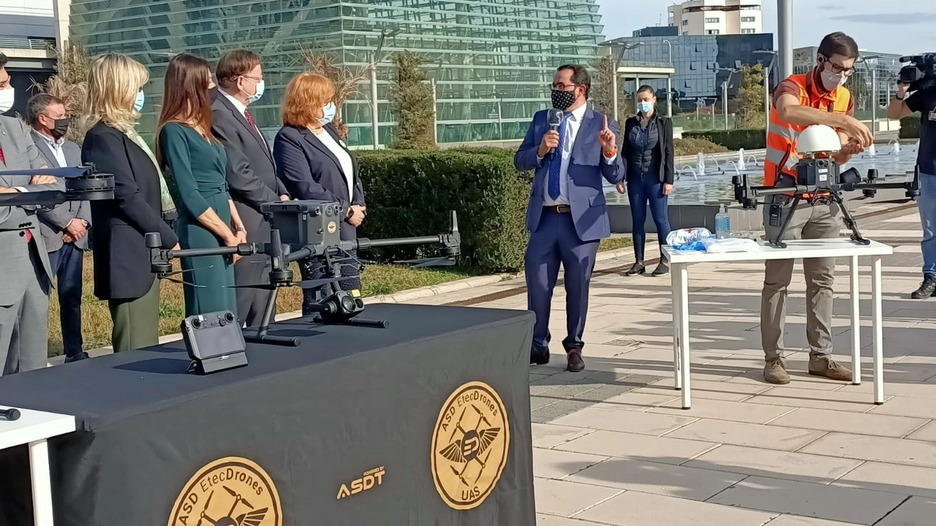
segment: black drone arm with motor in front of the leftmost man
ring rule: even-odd
[[[0,206],[56,206],[68,201],[101,201],[114,198],[114,177],[99,174],[94,164],[70,168],[9,170],[0,176],[53,176],[65,179],[65,190],[0,193]]]

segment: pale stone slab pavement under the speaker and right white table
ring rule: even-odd
[[[857,203],[859,215],[885,208]],[[909,298],[920,281],[922,234],[915,209],[898,210],[859,221],[863,234],[895,247],[884,259],[884,405],[871,404],[870,266],[861,267],[866,374],[858,386],[806,374],[799,263],[785,329],[787,386],[763,382],[763,264],[694,266],[694,403],[682,410],[672,388],[669,279],[624,277],[629,260],[603,263],[592,280],[586,371],[563,371],[561,346],[552,363],[531,367],[537,524],[936,523],[936,299]],[[848,363],[848,262],[839,263],[833,332]],[[521,281],[413,303],[480,296],[495,299],[475,306],[521,309]],[[557,287],[553,334],[564,332],[563,302]]]

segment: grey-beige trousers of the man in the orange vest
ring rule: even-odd
[[[772,198],[782,203],[782,220],[792,211],[792,199]],[[768,203],[771,203],[768,199]],[[822,200],[812,204],[801,201],[783,236],[784,239],[822,239],[839,237],[840,213],[835,203]],[[764,226],[768,238],[780,227],[769,223],[770,206],[764,206]],[[786,321],[786,292],[793,278],[794,260],[765,262],[764,290],[761,293],[761,344],[767,362],[783,359],[783,325]],[[806,339],[810,358],[832,352],[832,285],[835,282],[835,258],[803,260],[806,277]]]

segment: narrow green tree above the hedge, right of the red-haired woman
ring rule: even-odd
[[[422,67],[425,59],[412,51],[393,57],[397,77],[390,85],[390,111],[397,119],[395,149],[431,149],[435,147],[435,103],[429,74]]]

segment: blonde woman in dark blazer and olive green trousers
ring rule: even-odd
[[[114,199],[93,201],[95,296],[107,301],[114,352],[159,343],[159,282],[150,270],[144,235],[162,235],[178,248],[167,220],[175,214],[151,149],[136,131],[143,86],[150,74],[139,62],[107,53],[91,61],[81,161],[114,176]]]

